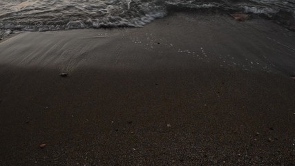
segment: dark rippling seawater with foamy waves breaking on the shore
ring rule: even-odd
[[[1,0],[0,29],[142,27],[173,12],[246,12],[292,26],[295,0]]]

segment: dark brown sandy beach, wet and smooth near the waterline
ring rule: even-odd
[[[0,165],[294,165],[294,41],[177,12],[3,39]]]

